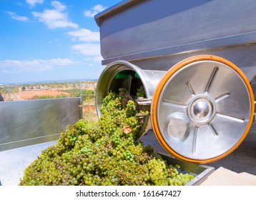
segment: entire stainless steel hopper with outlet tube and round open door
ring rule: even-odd
[[[137,73],[149,99],[147,123],[163,149],[195,164],[227,156],[247,136],[255,112],[255,9],[253,0],[131,0],[97,14],[107,65],[98,113],[110,90],[136,89],[114,79],[119,71],[159,74]]]

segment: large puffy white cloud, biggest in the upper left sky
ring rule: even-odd
[[[32,14],[39,19],[39,21],[46,24],[49,29],[67,27],[78,28],[77,24],[69,21],[68,14],[64,12],[66,6],[59,1],[52,1],[51,6],[53,6],[54,9],[45,9],[43,12],[32,12]]]

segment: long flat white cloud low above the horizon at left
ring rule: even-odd
[[[70,59],[0,60],[0,71],[2,73],[41,72],[49,71],[55,66],[70,66],[79,63],[79,61]]]

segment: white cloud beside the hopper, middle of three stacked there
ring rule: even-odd
[[[79,41],[99,41],[99,32],[93,32],[89,29],[79,29],[77,31],[67,32],[69,36],[73,37],[73,40]]]

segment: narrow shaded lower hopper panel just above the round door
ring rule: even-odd
[[[256,36],[255,36],[256,38]],[[210,54],[225,58],[238,66],[249,81],[252,81],[256,74],[256,43],[240,44],[233,46],[217,47],[212,49],[197,49],[195,51],[184,51],[176,54],[156,56],[150,59],[139,59],[130,61],[141,69],[169,70],[183,59],[191,56]]]

